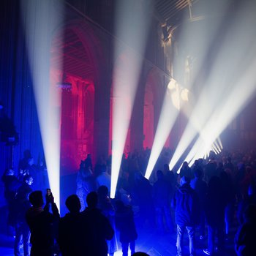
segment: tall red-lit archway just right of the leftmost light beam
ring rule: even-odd
[[[61,54],[60,54],[61,53]],[[94,64],[86,42],[72,27],[52,43],[50,78],[61,90],[61,174],[75,172],[93,151]],[[62,64],[62,69],[56,69]]]

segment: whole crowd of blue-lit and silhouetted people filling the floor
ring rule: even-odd
[[[208,159],[197,159],[191,167],[183,162],[177,171],[169,170],[172,152],[165,149],[149,180],[144,174],[150,150],[133,152],[122,159],[114,199],[109,197],[111,158],[93,166],[89,154],[80,162],[76,195],[67,197],[64,217],[50,190],[42,208],[44,190],[38,176],[37,187],[31,187],[34,177],[28,170],[33,164],[26,154],[26,161],[20,160],[20,166],[27,162],[26,168],[18,175],[8,169],[2,177],[8,222],[15,227],[15,255],[20,255],[21,243],[24,255],[114,255],[118,239],[124,256],[129,249],[137,255],[140,228],[158,235],[176,233],[177,255],[184,253],[187,230],[191,256],[197,251],[196,237],[206,239],[203,252],[214,255],[225,252],[225,241],[236,227],[236,254],[256,255],[255,151],[210,152]]]

